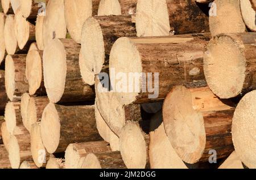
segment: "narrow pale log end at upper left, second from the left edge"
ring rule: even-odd
[[[17,40],[14,30],[14,15],[6,16],[3,33],[5,35],[4,38],[7,54],[15,54],[17,48]]]

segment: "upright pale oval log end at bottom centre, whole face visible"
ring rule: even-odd
[[[144,169],[146,166],[146,142],[141,128],[127,122],[119,136],[120,152],[128,169]]]

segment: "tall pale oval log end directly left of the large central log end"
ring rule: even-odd
[[[105,62],[104,39],[100,24],[94,18],[88,18],[81,33],[81,49],[84,61],[80,62],[81,71],[84,70],[86,76],[97,75]],[[86,80],[85,77],[85,82]]]

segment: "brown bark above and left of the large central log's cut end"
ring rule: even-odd
[[[114,42],[120,37],[136,37],[135,24],[132,16],[95,16],[93,17],[100,24],[105,48],[105,63],[109,65],[109,54]]]

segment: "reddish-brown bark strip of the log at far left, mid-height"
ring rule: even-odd
[[[21,96],[28,92],[28,82],[26,79],[26,54],[14,54],[11,55],[14,62],[15,69],[15,89],[14,97],[12,101],[20,101]]]

